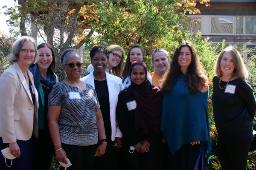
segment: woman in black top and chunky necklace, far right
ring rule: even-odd
[[[256,101],[243,59],[232,46],[221,51],[215,64],[212,105],[218,131],[218,158],[223,170],[246,170],[253,141]]]

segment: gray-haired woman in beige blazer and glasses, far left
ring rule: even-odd
[[[31,170],[32,133],[38,135],[38,93],[28,67],[38,59],[36,49],[35,40],[20,37],[7,57],[14,63],[0,77],[0,150],[9,147],[17,156],[12,162],[0,156],[0,170]]]

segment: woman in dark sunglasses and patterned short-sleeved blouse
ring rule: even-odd
[[[48,97],[48,122],[57,161],[69,170],[91,170],[95,156],[107,146],[102,113],[94,88],[81,82],[81,56],[75,49],[61,54],[66,79],[56,84]],[[101,141],[97,146],[98,141]],[[61,167],[64,169],[64,167]]]

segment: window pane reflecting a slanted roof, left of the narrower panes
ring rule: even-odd
[[[233,34],[233,17],[211,17],[211,34]]]

